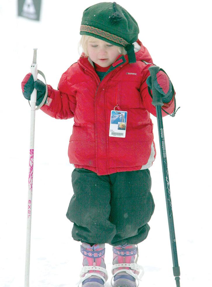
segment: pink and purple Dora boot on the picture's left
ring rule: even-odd
[[[108,279],[106,265],[104,263],[105,244],[94,244],[91,246],[82,243],[83,268],[80,273],[78,287],[103,287]]]

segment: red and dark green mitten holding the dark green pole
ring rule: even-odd
[[[150,91],[150,89],[152,89],[151,76],[147,78],[146,84],[148,85],[149,94],[152,96]],[[173,85],[163,69],[160,69],[156,74],[154,79],[154,86],[156,90],[161,94],[163,103],[168,103],[171,101],[173,98]]]

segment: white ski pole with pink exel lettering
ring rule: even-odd
[[[31,73],[34,81],[37,81],[37,49],[34,49]],[[31,219],[32,219],[32,180],[33,180],[33,160],[34,160],[34,138],[35,138],[35,104],[37,90],[31,94],[31,120],[30,120],[30,160],[29,160],[29,181],[28,181],[28,201],[27,201],[27,240],[25,259],[25,282],[24,286],[29,287],[30,276],[30,239],[31,239]]]

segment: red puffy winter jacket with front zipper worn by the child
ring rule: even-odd
[[[92,61],[82,54],[63,73],[58,90],[48,85],[48,105],[41,109],[58,119],[74,117],[68,156],[76,168],[98,175],[119,171],[146,169],[152,165],[156,151],[153,141],[151,104],[146,79],[152,63],[147,49],[138,40],[136,63],[129,64],[127,55],[119,55],[100,82]],[[127,111],[126,137],[109,137],[111,110]],[[174,110],[174,99],[164,104],[168,113]],[[163,116],[166,113],[162,112]]]

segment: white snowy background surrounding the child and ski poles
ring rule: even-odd
[[[0,286],[23,287],[30,107],[21,81],[30,72],[33,48],[38,69],[55,89],[79,55],[82,12],[98,1],[42,1],[39,23],[18,18],[16,1],[0,3],[1,180]],[[60,3],[60,4],[58,4]],[[139,39],[177,92],[175,118],[164,118],[181,286],[211,286],[211,43],[208,1],[119,1],[137,20]],[[175,286],[158,151],[151,167],[156,204],[148,238],[139,244],[145,274],[140,286]],[[36,112],[30,287],[72,287],[82,266],[80,243],[71,238],[66,210],[73,190],[68,141],[73,119]],[[106,246],[110,274],[112,248]],[[110,284],[107,284],[109,287]]]

